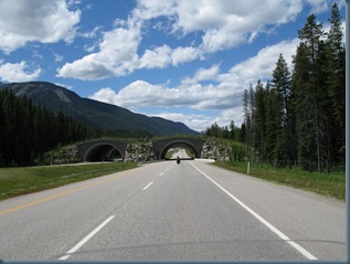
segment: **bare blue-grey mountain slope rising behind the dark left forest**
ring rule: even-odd
[[[149,117],[126,108],[82,98],[72,91],[46,82],[0,83],[17,96],[26,96],[47,109],[71,116],[76,122],[104,130],[145,130],[157,136],[198,135],[182,123]]]

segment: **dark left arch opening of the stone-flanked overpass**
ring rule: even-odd
[[[124,156],[113,145],[99,144],[91,147],[84,157],[84,162],[114,161],[123,159]]]

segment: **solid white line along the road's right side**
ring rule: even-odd
[[[276,229],[274,225],[272,225],[269,222],[267,222],[264,218],[262,218],[259,214],[257,214],[255,211],[253,211],[251,208],[245,205],[240,199],[234,197],[232,193],[230,193],[226,189],[224,189],[222,186],[220,186],[216,181],[214,181],[212,178],[210,178],[208,175],[205,175],[203,171],[201,171],[197,166],[194,166],[192,162],[189,161],[190,165],[194,169],[197,169],[199,172],[201,172],[206,179],[209,179],[211,182],[213,182],[215,186],[218,186],[223,192],[225,192],[230,198],[232,198],[234,201],[236,201],[241,207],[243,207],[246,211],[248,211],[251,214],[253,214],[257,220],[259,220],[263,224],[265,224],[269,230],[272,230],[275,234],[277,234],[282,240],[287,242],[289,245],[291,245],[294,249],[296,249],[298,252],[300,252],[304,256],[306,256],[308,260],[317,260],[316,256],[314,256],[311,253],[309,253],[307,250],[305,250],[303,246],[297,244],[296,242],[291,241],[287,235],[285,235],[283,232],[280,232],[278,229]]]

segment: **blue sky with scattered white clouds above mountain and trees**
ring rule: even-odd
[[[0,82],[44,81],[81,97],[203,131],[243,123],[242,95],[289,72],[298,30],[330,0],[0,0]],[[343,30],[343,32],[346,32]]]

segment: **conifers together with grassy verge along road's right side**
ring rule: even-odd
[[[283,54],[272,80],[243,93],[244,122],[204,135],[230,148],[216,166],[279,184],[346,199],[346,46],[337,3],[330,30],[310,14],[288,68]],[[241,142],[241,145],[238,144]],[[230,160],[230,161],[229,161]]]

